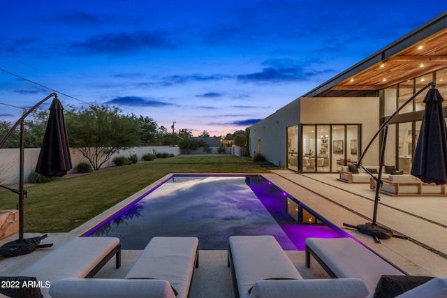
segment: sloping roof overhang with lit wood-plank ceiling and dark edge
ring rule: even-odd
[[[447,67],[447,12],[303,97],[379,96],[379,90]]]

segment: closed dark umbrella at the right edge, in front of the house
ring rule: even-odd
[[[425,112],[411,174],[425,183],[447,184],[447,133],[442,98],[432,87],[425,96]]]

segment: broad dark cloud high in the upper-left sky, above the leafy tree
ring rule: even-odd
[[[84,41],[72,43],[71,47],[79,54],[123,54],[147,48],[173,48],[167,35],[163,31],[99,33]]]

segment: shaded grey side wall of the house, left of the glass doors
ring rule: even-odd
[[[300,98],[259,121],[250,128],[250,156],[258,154],[258,140],[261,140],[261,154],[270,163],[286,167],[287,127],[300,122]]]

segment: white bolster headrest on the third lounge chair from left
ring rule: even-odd
[[[249,298],[364,298],[368,288],[359,278],[256,281]]]

